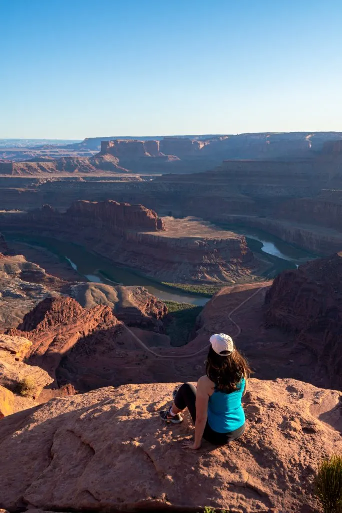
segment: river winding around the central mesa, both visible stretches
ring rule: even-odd
[[[266,278],[273,278],[284,269],[296,268],[299,264],[315,258],[315,255],[287,244],[273,235],[258,229],[239,225],[220,225],[220,227],[245,235],[250,249],[269,260],[270,268],[264,273]],[[89,281],[110,285],[142,285],[151,294],[164,301],[176,301],[178,303],[191,303],[194,305],[205,305],[209,301],[209,298],[202,295],[172,289],[146,278],[132,269],[117,266],[110,260],[95,255],[76,244],[18,233],[8,233],[6,238],[9,241],[16,240],[31,246],[47,249],[60,259],[66,259],[73,269]]]

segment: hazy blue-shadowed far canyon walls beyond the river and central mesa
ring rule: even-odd
[[[207,169],[198,168],[196,154],[209,151],[206,148],[214,145],[213,140],[210,139],[209,144],[209,139],[179,138],[177,151],[179,155],[183,151],[183,160],[177,157],[180,160],[167,165],[178,162],[183,166],[184,159],[192,155],[191,159],[195,159],[192,171],[197,172],[186,174],[177,174],[175,169],[172,173],[159,169],[158,174],[152,172],[152,168],[147,175],[138,173],[138,169],[132,174],[126,164],[122,164],[123,159],[127,162],[133,159],[135,163],[141,159],[151,162],[166,159],[163,151],[165,148],[170,151],[176,144],[172,138],[165,139],[167,143],[163,140],[104,141],[99,154],[89,159],[93,171],[87,168],[82,172],[82,166],[77,168],[75,165],[73,169],[77,168],[77,172],[69,177],[67,172],[58,176],[55,172],[47,175],[41,171],[32,171],[31,178],[19,174],[2,175],[0,199],[3,209],[29,210],[44,204],[67,209],[77,200],[102,202],[111,198],[117,202],[145,205],[159,216],[197,216],[213,223],[257,227],[315,254],[327,255],[338,251],[341,244],[341,144],[336,139],[329,141],[334,134],[316,135],[316,141],[320,142],[313,145],[315,151],[311,148],[312,153],[306,156],[275,158],[270,154],[267,160],[265,156],[247,160],[248,153],[244,153],[244,160],[217,160],[215,165],[208,163]],[[265,140],[269,139],[266,137]],[[219,144],[226,144],[230,139],[219,136],[218,140]],[[284,139],[279,136],[281,140]],[[309,137],[309,140],[315,139]],[[256,141],[260,139],[256,137]],[[134,153],[129,149],[131,146],[140,149]],[[222,155],[227,156],[227,153]],[[105,163],[108,169],[114,166],[119,172],[100,171]],[[30,165],[33,164],[38,165]],[[51,162],[43,164],[52,166]],[[24,164],[10,164],[12,167],[20,165]]]

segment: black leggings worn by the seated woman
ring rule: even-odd
[[[188,408],[192,421],[196,422],[196,388],[191,383],[184,383],[177,391],[174,404],[179,410]],[[224,445],[239,438],[245,432],[246,424],[228,433],[218,433],[209,426],[207,420],[203,438],[214,445]]]

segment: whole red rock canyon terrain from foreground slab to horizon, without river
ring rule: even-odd
[[[58,150],[87,159],[10,163],[0,177],[0,508],[317,510],[317,466],[342,450],[340,137],[90,139]],[[236,226],[324,258],[303,256],[272,281]],[[187,334],[176,347],[174,305],[143,286],[86,282],[68,254],[22,234],[217,292],[190,329],[178,325]],[[204,373],[213,332],[230,333],[255,373],[247,430],[179,459],[189,417],[170,428],[158,410],[175,381]],[[17,386],[32,377],[24,397]]]

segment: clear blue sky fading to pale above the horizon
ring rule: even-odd
[[[0,137],[342,130],[342,0],[0,0]]]

